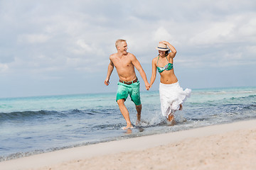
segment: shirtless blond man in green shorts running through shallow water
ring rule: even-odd
[[[110,84],[110,75],[114,67],[117,69],[117,74],[119,76],[117,98],[119,109],[127,121],[127,126],[122,128],[123,130],[133,128],[131,120],[129,118],[129,112],[124,105],[124,101],[127,99],[128,95],[134,102],[137,110],[137,123],[140,122],[142,103],[139,94],[139,80],[135,74],[134,67],[139,71],[142,79],[144,80],[146,90],[149,90],[149,82],[146,79],[146,74],[142,69],[141,64],[137,58],[132,55],[132,53],[127,52],[127,42],[126,40],[117,40],[115,43],[117,47],[117,52],[110,55],[110,64],[107,69],[107,78],[105,79],[105,85]]]

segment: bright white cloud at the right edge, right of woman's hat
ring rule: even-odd
[[[252,42],[256,36],[256,22],[251,13],[228,16],[224,21],[208,22],[201,33],[196,33],[190,42],[196,45],[216,43]],[[252,18],[251,18],[252,17]]]

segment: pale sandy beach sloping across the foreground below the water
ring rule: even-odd
[[[256,169],[256,120],[63,149],[0,169]]]

